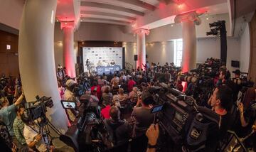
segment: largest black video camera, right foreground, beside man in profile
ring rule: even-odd
[[[215,151],[218,144],[219,116],[206,107],[197,106],[193,97],[173,88],[149,89],[159,106],[154,107],[161,129],[161,151],[183,147],[188,151]],[[157,92],[157,93],[156,93]],[[172,149],[170,143],[174,144]],[[166,149],[165,149],[166,148]],[[176,151],[182,151],[176,149]]]

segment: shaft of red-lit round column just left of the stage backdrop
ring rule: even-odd
[[[70,26],[63,27],[63,60],[67,75],[75,77],[75,52],[74,52],[74,28]]]

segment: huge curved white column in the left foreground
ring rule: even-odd
[[[63,133],[68,118],[60,103],[53,52],[57,0],[26,0],[18,37],[18,61],[27,102],[52,97],[48,119]]]

